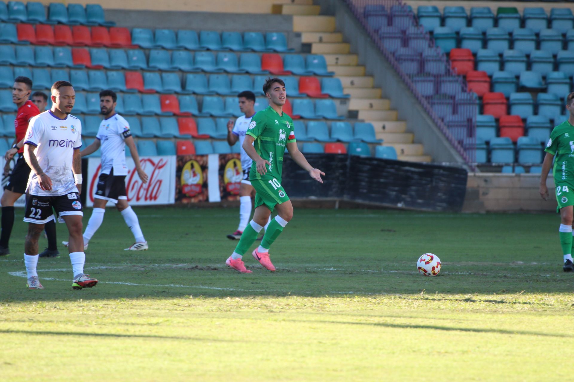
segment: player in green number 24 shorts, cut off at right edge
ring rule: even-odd
[[[556,201],[560,212],[560,246],[564,254],[565,272],[574,270],[572,263],[572,211],[574,210],[574,92],[566,97],[566,108],[570,112],[568,120],[554,127],[550,133],[550,140],[546,145],[546,156],[542,163],[540,177],[540,195],[548,199],[546,178],[554,161],[554,185],[556,186]]]

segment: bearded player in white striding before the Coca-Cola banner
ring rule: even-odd
[[[112,202],[122,214],[131,233],[134,234],[135,243],[126,248],[126,251],[142,251],[148,249],[148,242],[139,227],[138,216],[127,204],[126,192],[126,144],[130,148],[131,157],[134,160],[135,170],[142,182],[148,182],[148,175],[139,163],[138,150],[131,136],[130,125],[118,113],[115,112],[117,94],[112,90],[102,90],[100,92],[100,112],[104,116],[98,135],[92,144],[83,149],[82,156],[90,155],[99,147],[102,147],[102,164],[98,187],[94,195],[94,208],[92,216],[88,220],[88,226],[84,232],[84,249],[87,249],[88,242],[102,225],[106,203]],[[67,243],[64,242],[64,245]]]

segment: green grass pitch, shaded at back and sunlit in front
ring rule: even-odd
[[[254,273],[239,274],[224,265],[235,208],[135,210],[150,250],[123,251],[133,238],[108,209],[86,251],[91,290],[71,290],[66,254],[40,259],[45,289],[27,290],[17,223],[0,259],[0,380],[571,379],[557,215],[296,210],[277,272],[247,255]],[[426,252],[439,277],[417,273]]]

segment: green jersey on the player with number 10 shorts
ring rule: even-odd
[[[291,117],[285,113],[279,115],[269,106],[253,116],[246,134],[255,138],[253,142],[255,151],[270,163],[267,164],[265,175],[261,175],[257,172],[257,166],[253,161],[249,179],[277,179],[281,182],[285,145],[296,141]]]

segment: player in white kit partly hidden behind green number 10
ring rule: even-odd
[[[251,123],[251,117],[255,115],[255,94],[249,90],[245,90],[237,95],[239,99],[239,110],[245,115],[239,117],[235,120],[229,120],[227,123],[227,143],[232,146],[239,140],[239,145],[243,145],[243,140],[245,139],[245,133],[249,124]],[[241,180],[241,186],[239,186],[239,226],[234,233],[227,235],[228,239],[239,240],[241,234],[247,223],[249,223],[249,218],[251,217],[251,194],[253,194],[253,186],[249,181],[249,171],[251,170],[251,164],[253,159],[247,155],[243,147],[241,148],[241,168],[243,170],[243,179]],[[271,216],[269,216],[269,221],[265,225],[264,229],[267,229],[271,222]],[[259,238],[261,240],[261,238]]]

